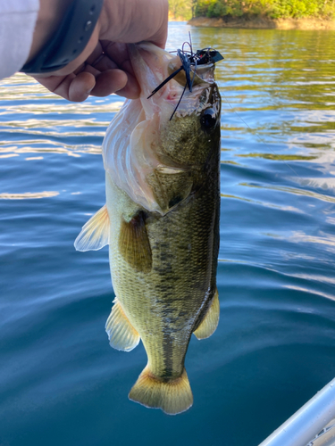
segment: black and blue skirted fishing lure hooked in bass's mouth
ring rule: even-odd
[[[186,51],[184,49],[185,45],[189,46],[190,51]],[[166,79],[164,79],[163,82],[158,87],[155,87],[155,90],[153,90],[151,92],[151,95],[149,95],[147,97],[147,99],[150,99],[150,97],[155,95],[155,93],[157,93],[157,91],[159,91],[167,82],[169,82],[169,80],[174,78],[181,70],[184,70],[185,76],[186,76],[186,84],[183,89],[183,92],[180,95],[180,100],[178,101],[176,108],[174,109],[170,120],[172,120],[174,113],[177,111],[180,101],[182,99],[182,96],[184,95],[184,93],[186,91],[186,88],[188,87],[188,91],[190,93],[192,93],[193,80],[197,73],[197,66],[205,65],[206,63],[220,62],[224,59],[222,54],[220,54],[217,50],[214,50],[210,46],[207,48],[203,48],[202,50],[197,50],[197,53],[193,53],[190,35],[189,35],[189,42],[184,42],[182,45],[182,49],[177,50],[177,54],[179,55],[180,61],[181,61],[180,68],[178,70],[173,71],[173,73],[170,76],[168,76]],[[192,79],[190,76],[191,67],[194,67]]]

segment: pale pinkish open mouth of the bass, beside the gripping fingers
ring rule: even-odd
[[[205,88],[214,84],[214,63],[190,67],[191,90],[187,88],[185,71],[180,70],[152,95],[156,87],[182,67],[180,57],[150,42],[130,44],[128,48],[130,62],[141,88],[140,100],[146,119],[152,119],[159,113],[161,121],[166,121],[171,118],[177,105],[181,116],[203,110],[200,96]]]

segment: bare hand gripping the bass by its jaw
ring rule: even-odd
[[[43,1],[48,0],[42,0],[41,4]],[[139,86],[126,44],[148,40],[163,48],[167,16],[167,0],[105,0],[85,50],[62,70],[34,78],[50,91],[73,102],[85,101],[88,95],[112,93],[136,99]],[[34,41],[36,39],[35,31]],[[37,51],[35,46],[33,52],[37,54]],[[29,58],[33,55],[30,52]]]

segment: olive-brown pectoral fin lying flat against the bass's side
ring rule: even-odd
[[[119,250],[123,258],[138,272],[147,273],[151,270],[152,253],[144,211],[139,211],[129,222],[122,221]]]

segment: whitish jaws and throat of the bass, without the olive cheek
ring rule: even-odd
[[[185,72],[180,70],[179,75],[151,95],[171,72],[180,69],[180,58],[147,42],[131,44],[128,48],[141,93],[138,99],[124,103],[107,129],[103,143],[104,166],[113,183],[133,202],[163,216],[170,208],[157,199],[153,178],[157,172],[165,177],[176,174],[181,178],[185,166],[164,152],[162,135],[171,130],[170,124],[172,127],[176,124],[175,119],[191,116],[193,120],[204,109],[213,108],[217,97],[214,64],[201,65],[190,73],[191,79],[194,77],[192,91],[185,87]]]

